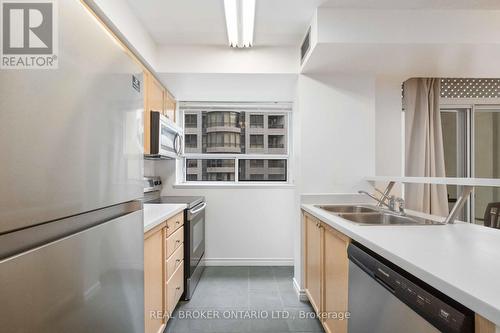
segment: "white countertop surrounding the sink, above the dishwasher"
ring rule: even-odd
[[[500,230],[469,223],[361,226],[302,209],[500,325]]]

